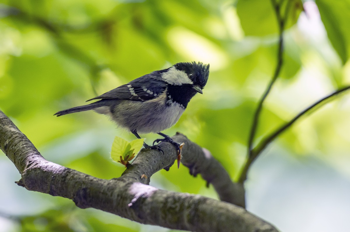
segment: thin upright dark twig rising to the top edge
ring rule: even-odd
[[[271,79],[270,83],[268,84],[264,94],[261,96],[259,103],[258,103],[257,110],[254,113],[252,127],[250,130],[250,135],[249,135],[249,139],[248,139],[248,152],[247,152],[248,158],[252,156],[253,140],[254,140],[255,133],[256,133],[256,130],[258,127],[259,116],[260,116],[260,112],[262,109],[262,105],[264,104],[264,101],[265,101],[267,95],[271,91],[272,85],[277,80],[277,77],[279,76],[279,73],[280,73],[281,67],[282,67],[282,63],[283,63],[283,30],[284,30],[285,21],[287,20],[287,17],[285,16],[282,18],[279,3],[276,3],[275,0],[271,0],[271,1],[272,1],[272,5],[275,9],[277,21],[279,24],[279,43],[278,43],[278,53],[277,53],[277,65],[275,68],[275,72],[272,76],[272,79]]]

